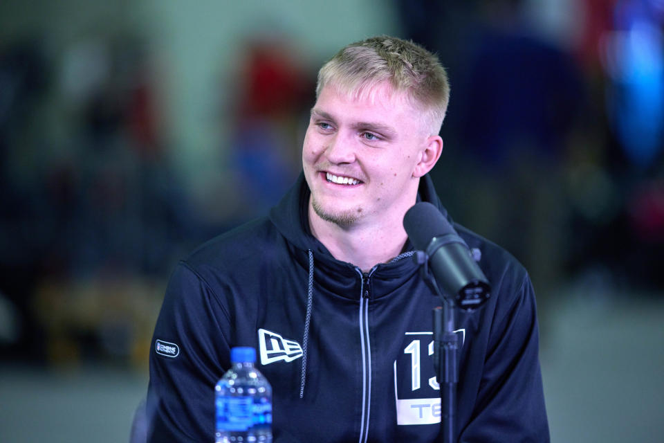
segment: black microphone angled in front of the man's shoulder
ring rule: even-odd
[[[485,302],[491,287],[470,248],[436,206],[421,202],[403,217],[403,227],[416,249],[424,251],[443,296],[462,309]]]

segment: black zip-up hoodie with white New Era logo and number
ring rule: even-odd
[[[369,273],[335,260],[308,230],[308,197],[301,175],[269,217],[178,264],[152,340],[149,441],[214,439],[214,385],[241,345],[256,348],[273,387],[275,442],[436,441],[439,298],[412,252]],[[446,215],[427,176],[418,199]],[[459,441],[548,442],[528,274],[495,244],[455,228],[481,253],[492,284],[483,307],[457,314]]]

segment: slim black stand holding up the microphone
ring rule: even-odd
[[[454,443],[457,441],[457,383],[459,383],[457,365],[459,338],[454,332],[454,299],[445,297],[436,284],[434,276],[429,271],[429,256],[423,251],[416,251],[413,257],[420,266],[422,279],[443,303],[442,307],[435,307],[433,312],[434,369],[441,391],[442,433],[439,434],[439,438],[441,442]]]

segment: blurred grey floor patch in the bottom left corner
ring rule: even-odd
[[[105,368],[0,369],[0,442],[127,442],[147,378]]]

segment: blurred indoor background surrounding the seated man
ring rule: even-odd
[[[448,68],[432,172],[531,272],[553,442],[661,442],[664,0],[0,3],[0,441],[127,441],[178,259],[297,177],[315,75]]]

